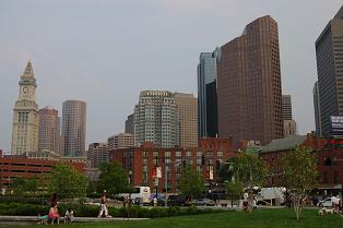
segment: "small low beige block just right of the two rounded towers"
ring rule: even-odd
[[[103,163],[109,161],[109,152],[106,143],[91,143],[87,151],[87,159],[92,167],[99,167]]]

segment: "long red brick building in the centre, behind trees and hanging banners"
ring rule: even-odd
[[[158,179],[157,191],[177,192],[177,182],[181,177],[182,168],[187,165],[201,172],[209,184],[218,180],[220,167],[229,157],[237,154],[233,149],[230,139],[201,139],[198,147],[190,148],[158,148],[152,143],[144,143],[140,147],[114,149],[111,160],[119,161],[129,173],[132,171],[133,185],[149,185],[155,189],[155,179],[152,177],[155,167],[162,168],[162,178]]]

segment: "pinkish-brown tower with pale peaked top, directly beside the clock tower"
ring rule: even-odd
[[[60,119],[58,110],[50,106],[39,109],[38,151],[60,152]]]

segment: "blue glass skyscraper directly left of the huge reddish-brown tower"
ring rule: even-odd
[[[218,133],[216,62],[220,49],[200,53],[198,64],[198,129],[199,137],[215,137]]]

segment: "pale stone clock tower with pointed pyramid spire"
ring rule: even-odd
[[[31,61],[19,81],[19,99],[13,109],[12,155],[22,155],[38,149],[38,106],[36,79]]]

